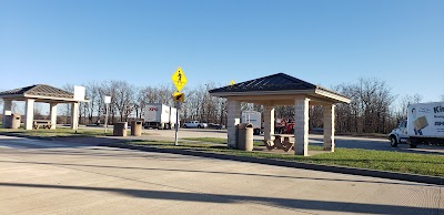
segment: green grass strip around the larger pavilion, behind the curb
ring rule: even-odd
[[[196,139],[186,139],[196,141]],[[212,139],[199,139],[204,142],[211,142]],[[226,143],[219,139],[214,139],[213,143]],[[370,168],[379,171],[390,171],[398,173],[411,173],[420,175],[432,175],[444,177],[444,155],[432,154],[414,154],[401,152],[385,152],[359,149],[335,149],[334,153],[323,153],[313,156],[300,156],[292,154],[272,154],[261,152],[243,152],[238,150],[229,150],[224,145],[202,144],[199,142],[180,142],[179,146],[174,146],[172,142],[129,142],[128,144],[145,144],[155,147],[172,147],[198,150],[224,154],[233,154],[241,156],[254,156],[266,158],[279,158],[285,161],[296,161],[314,164],[350,166],[357,168]],[[309,150],[322,150],[321,146],[310,146]]]

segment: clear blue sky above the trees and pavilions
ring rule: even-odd
[[[444,1],[0,0],[1,90],[125,80],[188,86],[284,72],[444,94]],[[185,86],[186,88],[186,86]]]

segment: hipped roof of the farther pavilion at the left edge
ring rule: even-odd
[[[0,92],[1,95],[38,95],[49,98],[74,99],[74,94],[47,84],[36,84],[26,88]]]

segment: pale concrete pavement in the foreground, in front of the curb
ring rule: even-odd
[[[443,187],[0,136],[0,214],[442,214]]]

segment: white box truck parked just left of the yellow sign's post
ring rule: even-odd
[[[150,103],[145,106],[143,127],[171,130],[175,125],[178,110],[161,103]]]

